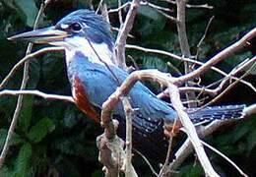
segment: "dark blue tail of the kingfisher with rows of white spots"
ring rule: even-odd
[[[245,104],[212,106],[203,109],[188,108],[187,112],[193,123],[214,120],[239,119],[242,118]]]

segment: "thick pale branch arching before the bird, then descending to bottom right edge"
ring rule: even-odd
[[[174,87],[174,85],[172,83],[174,83],[173,81],[175,81],[175,80],[173,80],[169,75],[162,74],[157,70],[133,72],[126,78],[126,80],[123,82],[123,84],[120,86],[120,88],[116,89],[116,91],[109,96],[107,101],[104,102],[104,104],[102,106],[103,111],[101,114],[101,119],[102,119],[101,122],[102,123],[109,122],[109,116],[110,116],[111,110],[118,103],[118,101],[120,100],[121,97],[128,94],[130,89],[132,89],[132,87],[135,85],[135,83],[137,81],[149,80],[149,79],[153,80],[155,82],[159,82],[160,85],[163,85],[166,87],[169,87],[170,85],[172,85]],[[177,89],[177,91],[178,91],[178,89]],[[189,120],[187,113],[182,109],[183,106],[180,102],[180,99],[178,99],[179,102],[173,102],[173,101],[177,100],[177,98],[175,99],[175,95],[176,95],[175,93],[172,95],[172,96],[174,96],[173,97],[174,99],[172,99],[172,103],[175,104],[174,107],[175,107],[176,111],[178,112],[179,116],[181,117],[181,119],[183,118],[181,122],[184,123],[183,126],[185,127],[186,131],[188,132],[188,136],[196,148],[200,162],[203,165],[203,168],[205,169],[206,174],[210,175],[210,176],[219,176],[214,171],[213,167],[211,166],[211,163],[209,162],[209,159],[208,159],[202,145],[200,144],[200,140],[197,137],[197,134],[195,132],[195,128],[193,127],[192,122]],[[108,115],[108,117],[106,115]],[[184,121],[184,120],[186,120],[186,121]],[[190,124],[187,123],[187,121],[189,121]],[[191,129],[192,129],[192,131],[191,131]]]

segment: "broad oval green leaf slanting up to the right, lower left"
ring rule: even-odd
[[[53,121],[47,117],[37,122],[31,129],[28,137],[33,143],[40,142],[48,133],[55,129]]]

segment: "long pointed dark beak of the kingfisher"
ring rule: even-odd
[[[33,43],[49,43],[54,41],[63,41],[63,38],[68,35],[67,31],[50,27],[16,34],[8,37],[8,40],[27,40]]]

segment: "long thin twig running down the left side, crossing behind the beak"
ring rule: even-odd
[[[44,11],[45,7],[48,5],[49,2],[50,2],[49,0],[45,0],[44,2],[41,3],[40,9],[37,13],[37,16],[36,16],[36,19],[35,19],[35,22],[34,22],[33,29],[37,29],[38,24],[39,24],[39,19],[41,18],[42,14],[43,14],[43,11]],[[29,43],[26,55],[30,54],[31,51],[32,51],[32,43]],[[30,62],[29,61],[25,62],[21,89],[25,89],[27,87],[27,83],[29,81],[29,67],[30,67]],[[22,109],[22,105],[23,105],[23,98],[24,98],[23,95],[19,95],[17,105],[16,105],[16,109],[15,109],[15,112],[14,112],[14,115],[13,115],[13,118],[12,118],[12,122],[11,122],[10,128],[8,130],[5,145],[4,145],[4,148],[1,152],[0,169],[3,166],[5,157],[8,153],[8,149],[9,149],[10,143],[11,143],[13,135],[14,135],[14,129],[16,127],[16,124],[17,124],[17,121],[18,121],[18,118],[20,116],[20,112],[21,112],[21,109]]]

